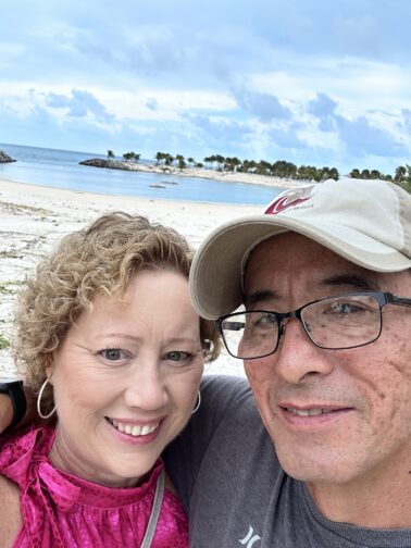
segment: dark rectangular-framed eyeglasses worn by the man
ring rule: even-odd
[[[291,312],[235,312],[219,317],[216,326],[228,352],[242,360],[274,353],[287,317],[299,320],[315,346],[342,350],[370,345],[379,337],[386,304],[411,307],[411,299],[384,291],[346,294],[309,302]]]

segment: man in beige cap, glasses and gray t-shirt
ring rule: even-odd
[[[411,196],[286,191],[214,231],[190,287],[260,414],[240,381],[205,381],[169,453],[190,546],[411,547]]]

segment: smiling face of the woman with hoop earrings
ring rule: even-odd
[[[138,483],[188,421],[203,370],[188,283],[142,271],[125,299],[99,296],[53,354],[54,465],[110,486]]]

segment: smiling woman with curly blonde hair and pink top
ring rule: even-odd
[[[190,260],[174,231],[113,213],[27,281],[14,353],[43,421],[2,445],[1,546],[188,546],[160,454],[217,354],[189,300]]]

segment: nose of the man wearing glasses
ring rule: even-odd
[[[301,383],[313,375],[327,375],[332,363],[327,351],[316,347],[297,317],[287,319],[281,327],[278,348],[272,357],[275,370],[291,384]]]

